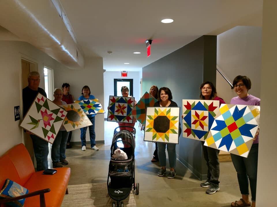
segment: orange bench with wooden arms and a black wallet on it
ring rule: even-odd
[[[54,175],[42,175],[42,172],[35,172],[27,149],[23,144],[18,144],[0,157],[0,190],[5,180],[10,179],[29,190],[23,196],[27,197],[25,207],[61,206],[64,194],[68,194],[70,168],[57,168]],[[5,200],[0,199],[0,207],[7,206]]]

